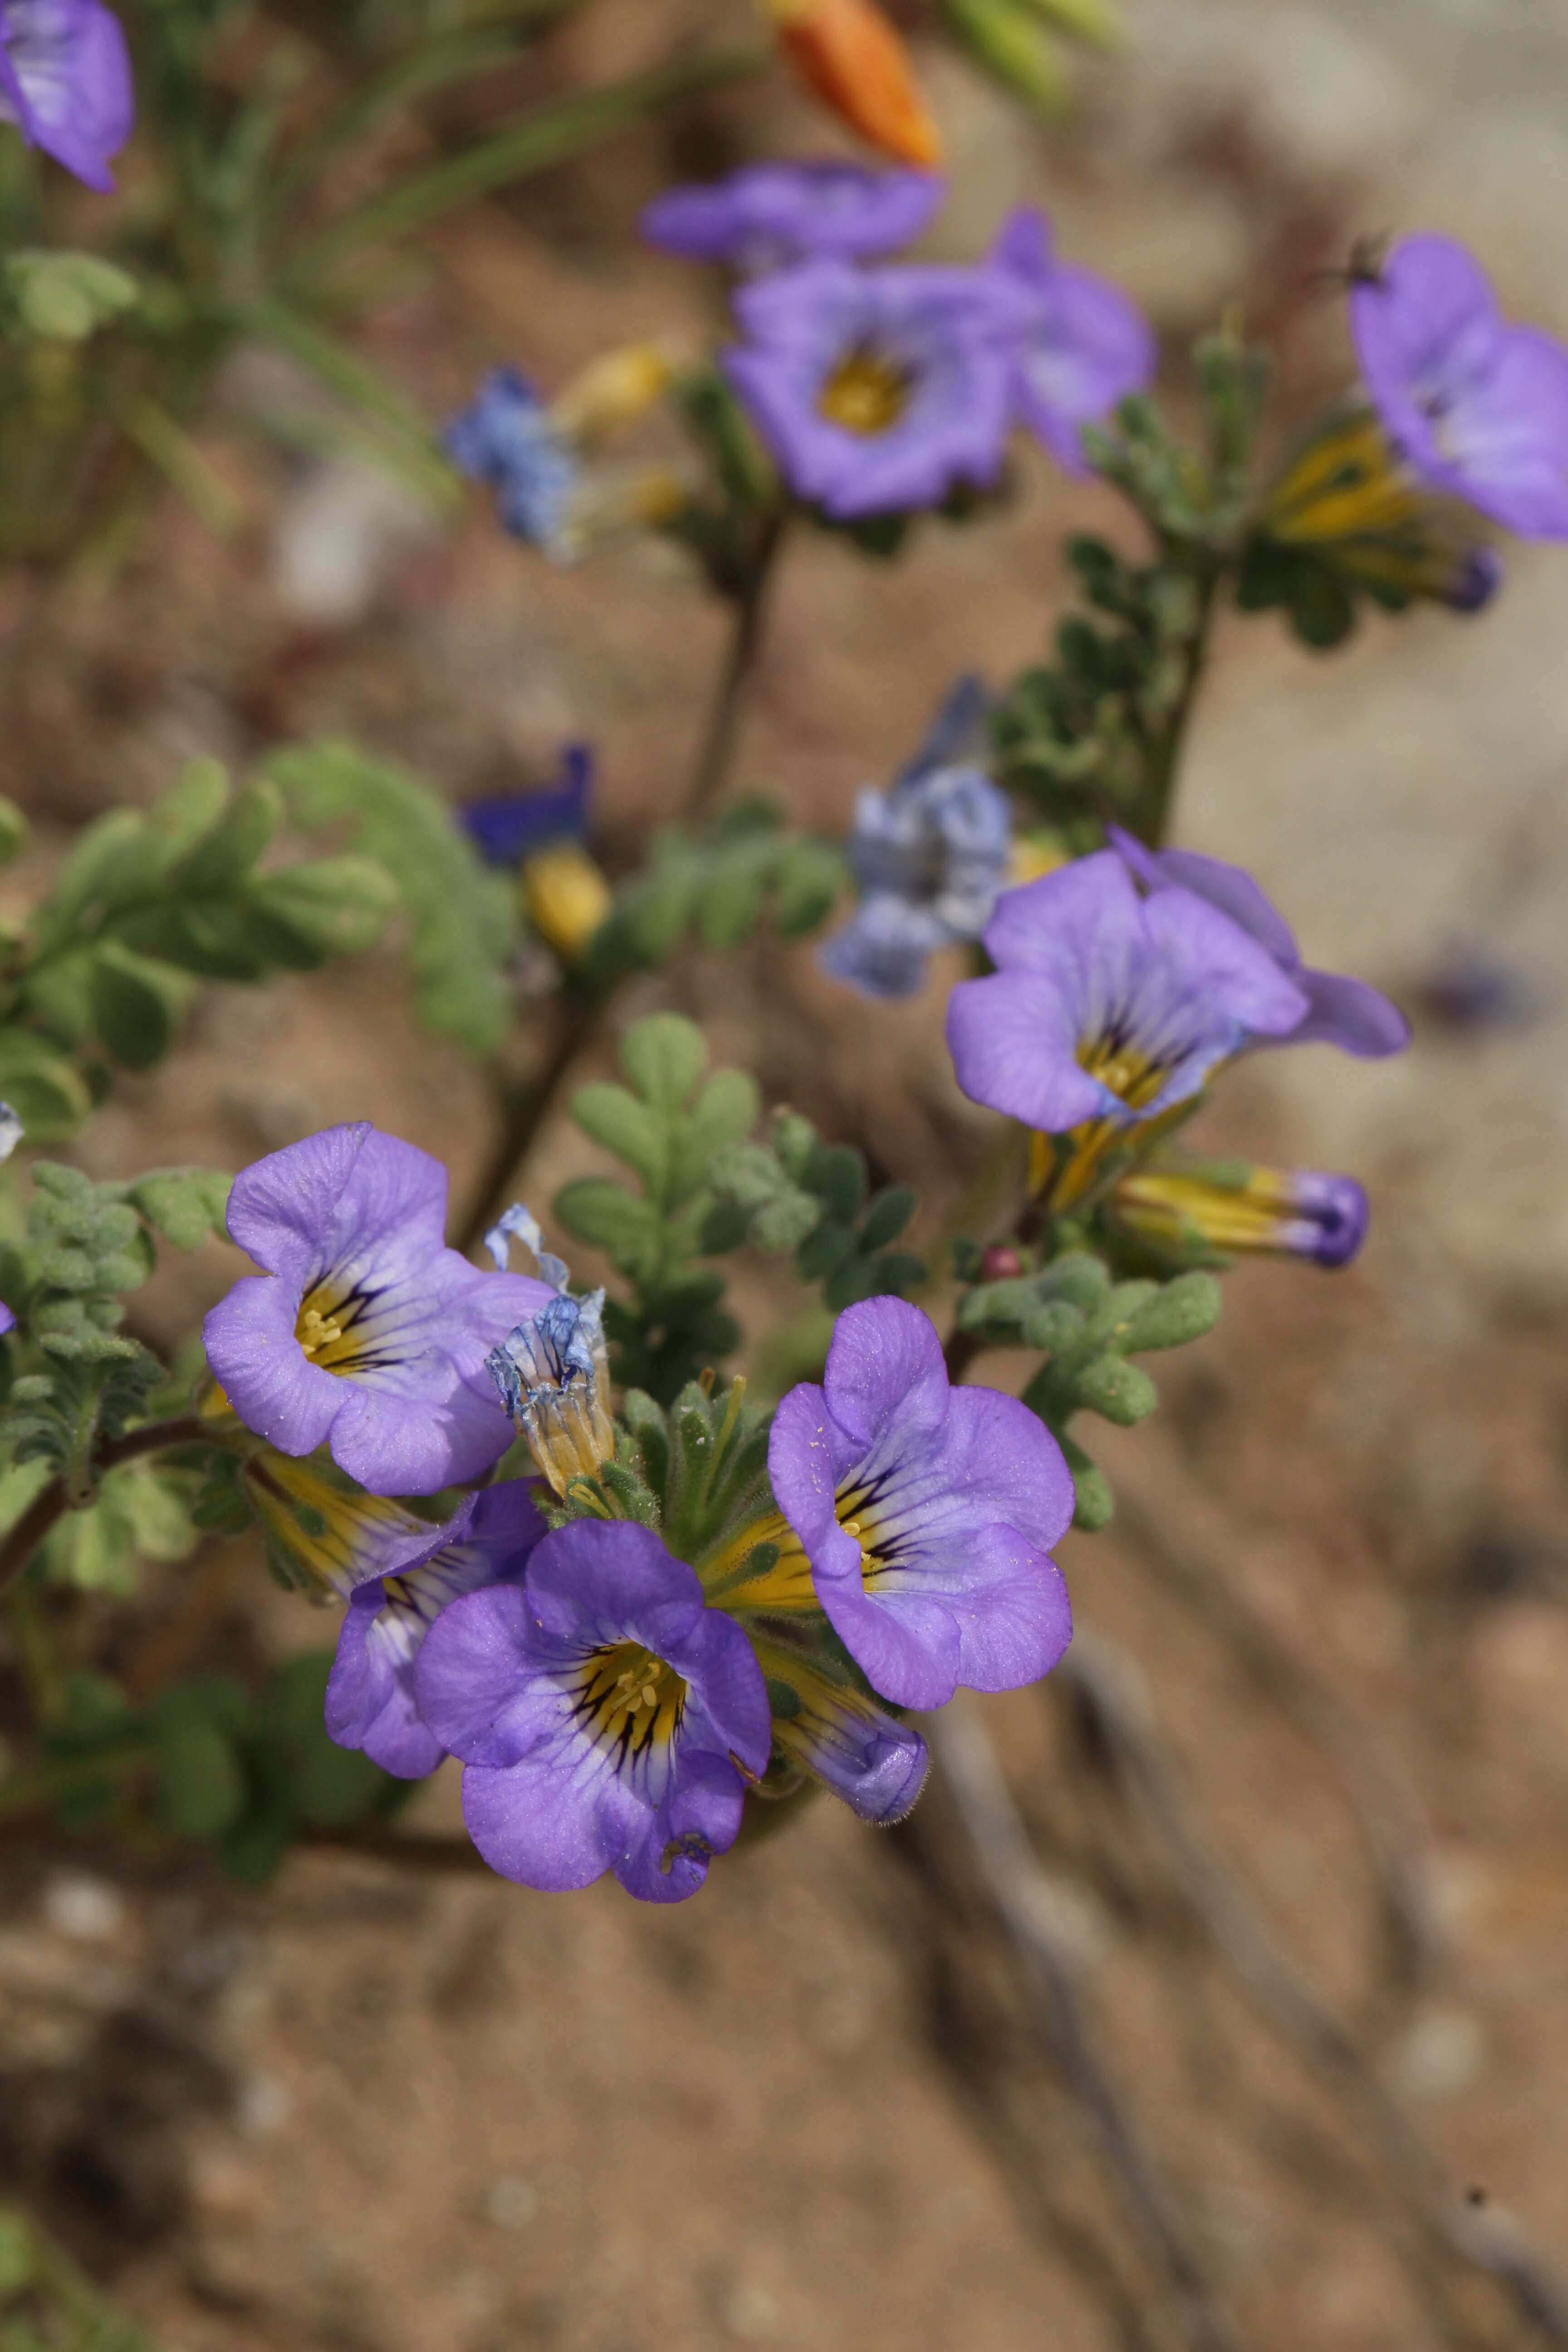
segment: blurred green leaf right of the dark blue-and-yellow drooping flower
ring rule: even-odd
[[[736,948],[764,917],[783,938],[802,938],[827,922],[842,887],[837,842],[788,833],[766,802],[738,802],[710,826],[668,826],[616,894],[590,971],[614,978],[661,964],[686,936]]]

